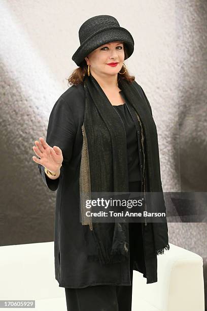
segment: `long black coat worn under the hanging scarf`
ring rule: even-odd
[[[56,145],[62,150],[63,162],[60,176],[52,180],[45,174],[44,167],[38,165],[44,183],[51,191],[57,190],[54,232],[55,278],[59,287],[66,288],[131,285],[129,259],[111,265],[87,261],[84,234],[85,230],[90,229],[89,226],[81,224],[79,208],[84,104],[84,85],[73,85],[59,97],[51,111],[46,141],[50,146]],[[137,119],[135,119],[137,126]],[[150,225],[148,223],[145,226],[142,223],[137,226],[134,233],[136,260],[133,270],[143,273],[147,278],[147,284],[157,282],[157,255],[149,234]]]

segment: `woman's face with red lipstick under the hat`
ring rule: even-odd
[[[117,75],[124,63],[124,45],[122,41],[113,41],[103,44],[85,57],[90,71],[96,75]],[[109,66],[109,63],[118,63],[117,66]]]

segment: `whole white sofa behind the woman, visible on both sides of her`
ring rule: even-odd
[[[157,283],[146,284],[133,271],[132,311],[204,311],[202,258],[169,245],[157,257]],[[37,311],[66,311],[54,273],[54,242],[1,246],[0,300],[35,300]]]

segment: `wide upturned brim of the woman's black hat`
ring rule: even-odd
[[[127,29],[123,27],[117,27],[112,29],[104,29],[98,34],[94,35],[92,38],[85,41],[79,46],[77,51],[72,56],[77,66],[80,66],[84,57],[86,57],[90,52],[97,49],[99,46],[113,42],[113,41],[123,41],[125,43],[127,54],[124,59],[127,59],[134,50],[134,41],[131,34]],[[127,57],[128,56],[128,57]]]

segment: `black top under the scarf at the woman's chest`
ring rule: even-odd
[[[126,131],[129,182],[140,181],[141,172],[139,144],[137,141],[137,133],[134,121],[126,104],[121,104],[118,106],[113,105],[113,107],[117,109],[117,112],[121,116]]]

